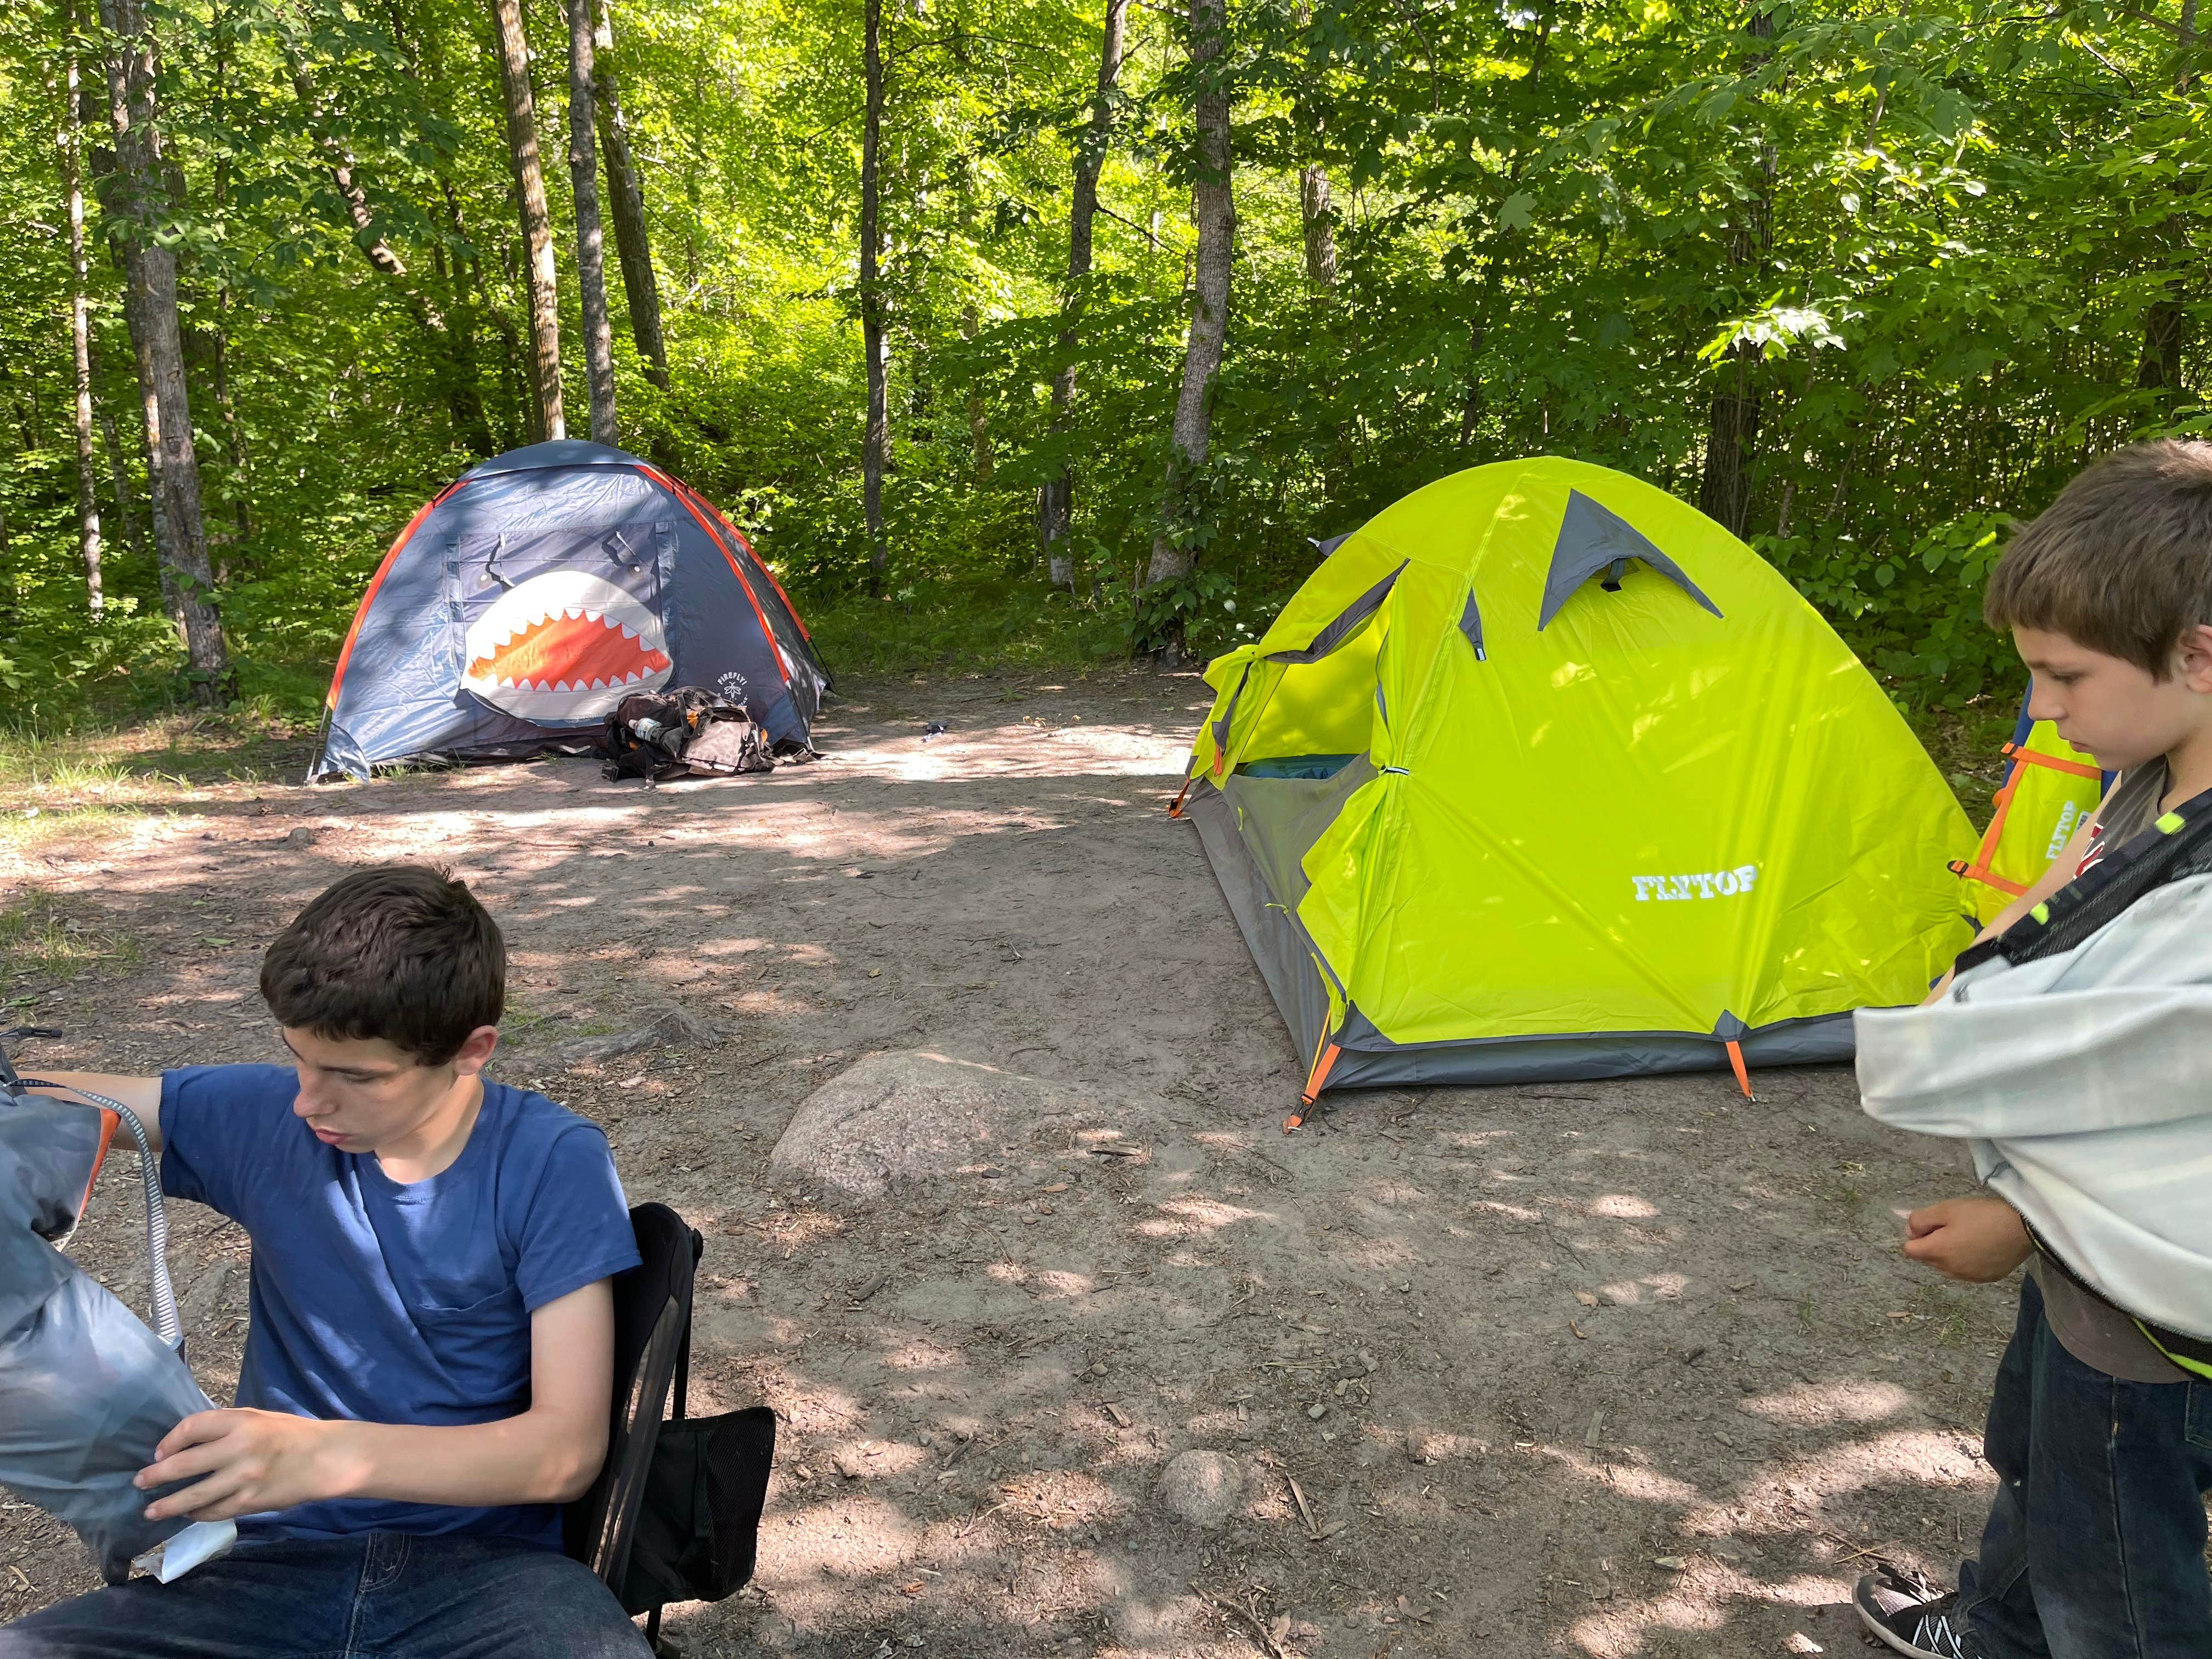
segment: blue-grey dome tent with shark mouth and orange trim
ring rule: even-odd
[[[830,677],[752,544],[637,456],[555,440],[462,473],[354,615],[307,776],[593,748],[633,692],[706,686],[810,743]]]

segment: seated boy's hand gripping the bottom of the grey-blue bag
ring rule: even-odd
[[[288,1411],[199,1411],[161,1438],[135,1484],[204,1480],[148,1504],[146,1520],[234,1520],[343,1498],[367,1473],[367,1451],[352,1444],[356,1427]]]

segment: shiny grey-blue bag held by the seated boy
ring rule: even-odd
[[[230,1548],[230,1522],[148,1522],[131,1484],[161,1438],[215,1402],[184,1356],[55,1239],[75,1230],[117,1119],[0,1086],[0,1484],[75,1528],[108,1584],[161,1579]],[[155,1243],[166,1234],[150,1190]],[[155,1254],[157,1305],[175,1298]]]

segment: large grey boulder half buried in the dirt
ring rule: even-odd
[[[781,1181],[858,1199],[1086,1146],[1135,1148],[1139,1113],[927,1048],[869,1055],[807,1095],[768,1155]]]

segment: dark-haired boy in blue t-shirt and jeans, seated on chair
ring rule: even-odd
[[[557,1509],[606,1455],[637,1245],[599,1128],[484,1079],[504,982],[460,880],[383,865],[261,964],[292,1071],[53,1075],[135,1108],[161,1188],[254,1243],[237,1409],[139,1475],[173,1489],[148,1515],[234,1517],[239,1544],[18,1619],[0,1659],[646,1652]]]

